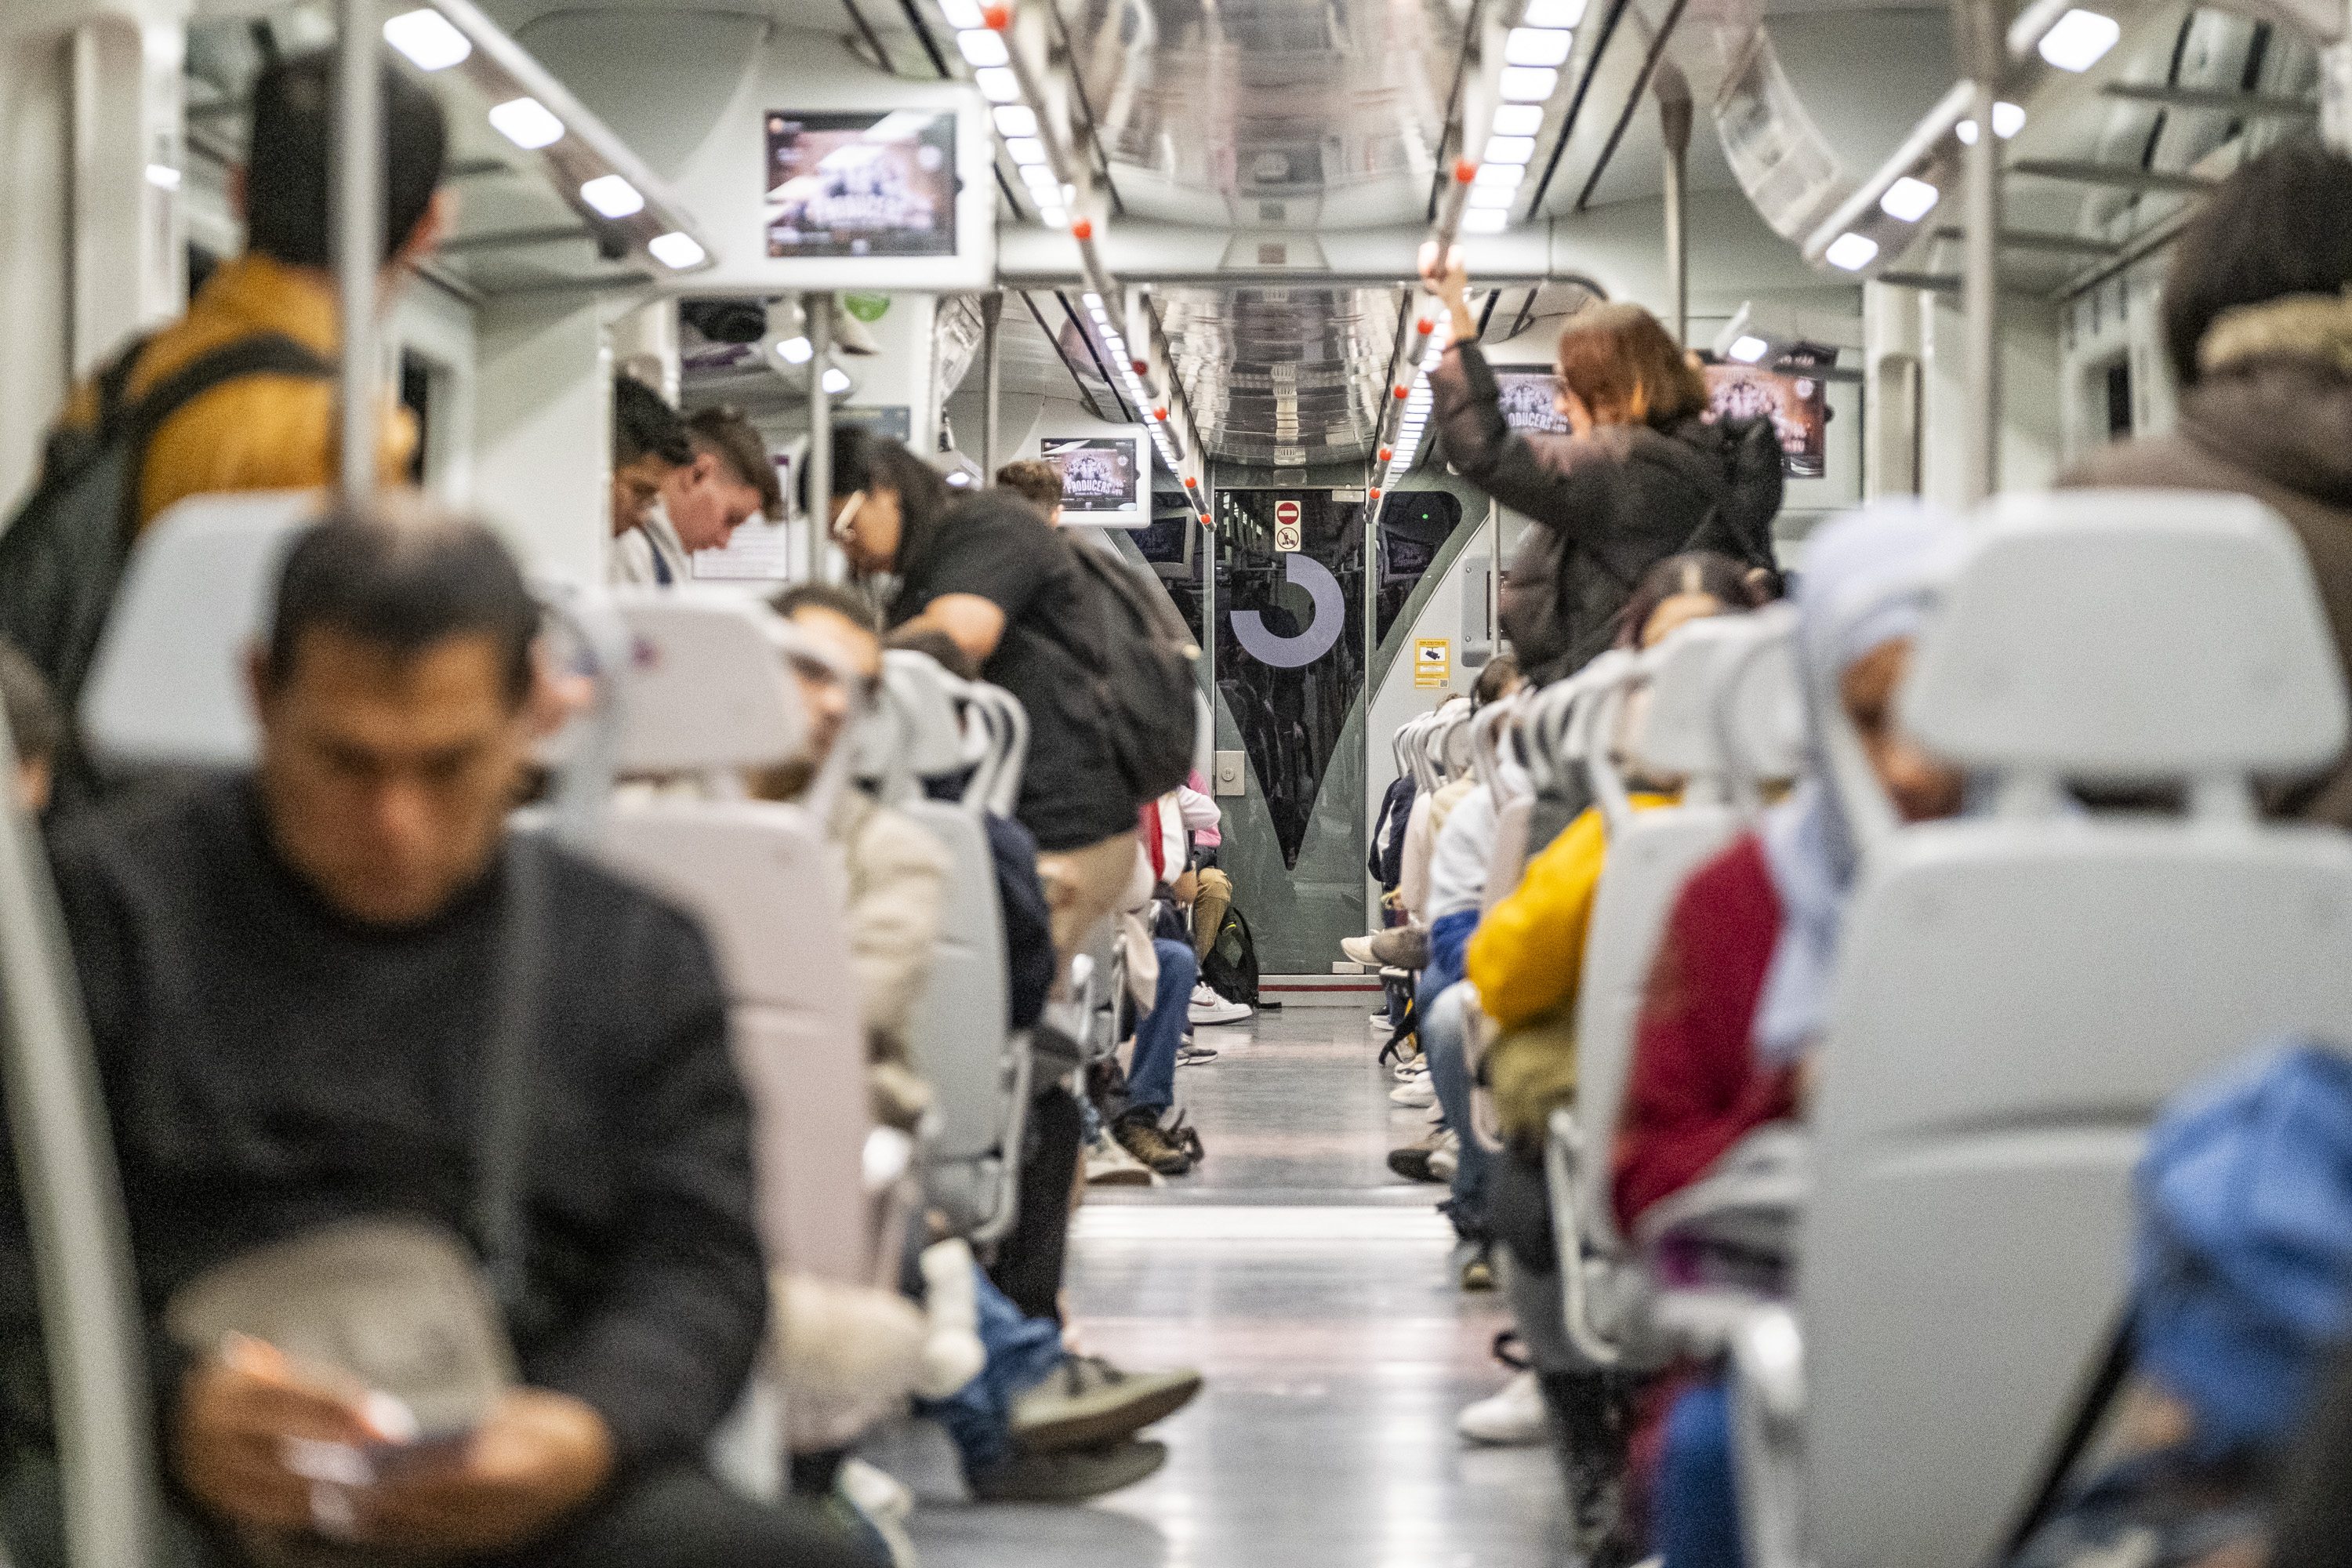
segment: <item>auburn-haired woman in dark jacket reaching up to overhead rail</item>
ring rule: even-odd
[[[1670,555],[1717,550],[1771,569],[1780,442],[1769,418],[1708,418],[1708,383],[1642,306],[1578,310],[1559,334],[1559,414],[1573,433],[1538,451],[1503,421],[1477,346],[1461,252],[1425,252],[1454,346],[1430,374],[1446,461],[1524,512],[1503,578],[1503,632],[1534,682],[1573,672],[1613,639],[1642,576]]]

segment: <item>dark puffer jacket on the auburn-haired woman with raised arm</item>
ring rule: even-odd
[[[1449,348],[1430,388],[1444,458],[1538,524],[1503,578],[1503,635],[1531,679],[1571,675],[1606,649],[1635,583],[1668,555],[1773,564],[1780,442],[1769,418],[1604,425],[1538,451],[1503,421],[1477,343]]]

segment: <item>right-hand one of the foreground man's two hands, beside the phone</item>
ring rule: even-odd
[[[358,1537],[473,1556],[546,1535],[612,1479],[604,1418],[569,1394],[508,1389],[447,1458],[397,1455],[358,1497]]]

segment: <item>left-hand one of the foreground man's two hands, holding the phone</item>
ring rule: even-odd
[[[188,1493],[245,1530],[299,1535],[320,1523],[320,1483],[289,1458],[303,1446],[381,1443],[367,1389],[294,1366],[278,1347],[230,1335],[181,1382],[174,1462]]]

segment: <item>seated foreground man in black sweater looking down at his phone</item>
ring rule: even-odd
[[[56,844],[151,1326],[207,1269],[339,1220],[485,1241],[475,1128],[536,621],[489,531],[332,517],[294,543],[254,656],[261,766]],[[767,1319],[710,950],[586,860],[548,851],[541,886],[506,1293],[520,1387],[461,1441],[322,1495],[289,1441],[386,1436],[350,1389],[266,1345],[191,1359],[155,1333],[176,1563],[315,1533],[513,1568],[861,1561],[701,1467]],[[31,1566],[54,1561],[54,1521],[24,1507],[49,1422],[26,1239],[0,1208],[0,1512]]]

